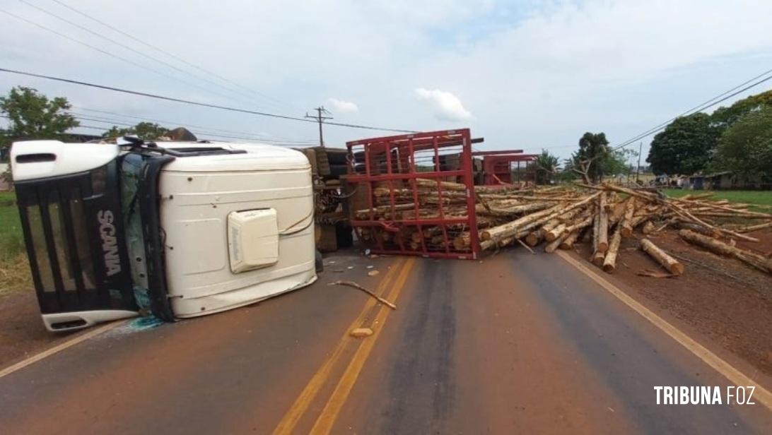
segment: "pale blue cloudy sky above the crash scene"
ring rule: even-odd
[[[586,131],[622,143],[772,69],[769,0],[182,4],[2,0],[0,67],[288,116],[323,105],[339,123],[469,127],[479,150],[561,158]],[[19,85],[66,96],[104,130],[142,118],[199,137],[318,141],[314,123],[0,73],[0,93]],[[391,134],[324,127],[327,146]]]

